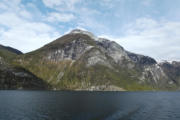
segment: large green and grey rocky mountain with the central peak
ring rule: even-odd
[[[125,50],[114,41],[75,29],[11,62],[58,90],[178,90],[180,63]]]

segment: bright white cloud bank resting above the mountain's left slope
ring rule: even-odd
[[[47,24],[22,23],[4,31],[0,39],[3,45],[18,48],[23,52],[29,52],[42,47],[59,36],[59,33]]]

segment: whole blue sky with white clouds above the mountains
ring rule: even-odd
[[[30,52],[81,28],[180,61],[180,0],[0,0],[0,44]]]

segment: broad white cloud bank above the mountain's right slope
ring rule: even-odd
[[[180,59],[180,22],[139,18],[126,27],[125,33],[123,37],[105,37],[157,60]]]

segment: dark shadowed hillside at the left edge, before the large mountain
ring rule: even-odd
[[[0,89],[48,89],[48,84],[12,61],[22,52],[0,45]]]

